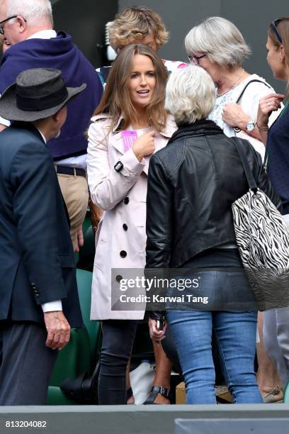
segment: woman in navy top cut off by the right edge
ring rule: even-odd
[[[259,104],[257,124],[266,145],[265,166],[268,177],[281,198],[284,220],[289,224],[289,17],[279,18],[271,23],[266,49],[268,65],[274,78],[287,84],[286,104],[275,123],[270,126],[271,113],[278,109],[284,95],[271,93],[263,97]],[[264,343],[285,386],[289,380],[288,308],[264,313]]]

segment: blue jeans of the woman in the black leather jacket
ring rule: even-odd
[[[225,285],[227,291],[230,290],[232,272],[229,273],[231,279],[226,279],[226,272],[208,271],[202,274],[206,274],[204,277],[208,283],[211,282],[210,290],[217,285],[218,277],[223,282],[222,290],[225,291]],[[234,282],[237,284],[238,278]],[[263,402],[254,373],[256,311],[171,310],[166,313],[166,318],[179,353],[187,404],[216,404],[212,330],[234,403]]]

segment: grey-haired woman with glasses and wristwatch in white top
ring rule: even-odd
[[[256,118],[260,99],[272,94],[273,88],[259,75],[244,69],[243,62],[251,50],[242,33],[234,23],[214,16],[193,27],[186,35],[185,45],[191,62],[205,69],[215,83],[216,104],[208,118],[229,137],[237,135],[249,140],[263,158],[265,148]],[[269,125],[277,116],[276,111],[271,113]],[[270,403],[282,399],[283,392],[276,369],[263,347],[262,328],[263,313],[259,313],[257,379],[264,402]]]

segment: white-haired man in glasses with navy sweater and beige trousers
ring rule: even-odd
[[[70,87],[86,82],[78,101],[69,104],[67,123],[59,138],[48,145],[55,162],[60,188],[67,204],[74,250],[81,245],[81,226],[89,201],[86,182],[84,137],[91,113],[101,99],[103,87],[94,67],[72,43],[71,36],[53,30],[49,0],[3,0],[0,33],[11,47],[0,65],[0,94],[24,69],[57,68]],[[0,118],[0,130],[10,124]]]

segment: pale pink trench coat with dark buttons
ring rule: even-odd
[[[137,311],[112,310],[111,285],[116,276],[125,276],[125,270],[112,277],[111,269],[145,267],[149,157],[139,162],[132,149],[125,152],[121,133],[109,132],[108,116],[94,116],[91,121],[87,150],[89,189],[94,204],[105,211],[96,233],[91,319],[142,319],[145,305]],[[166,146],[175,130],[174,121],[168,117],[164,132],[154,136],[155,152]],[[123,163],[120,172],[114,169],[118,161]],[[115,284],[119,291],[118,282]]]

